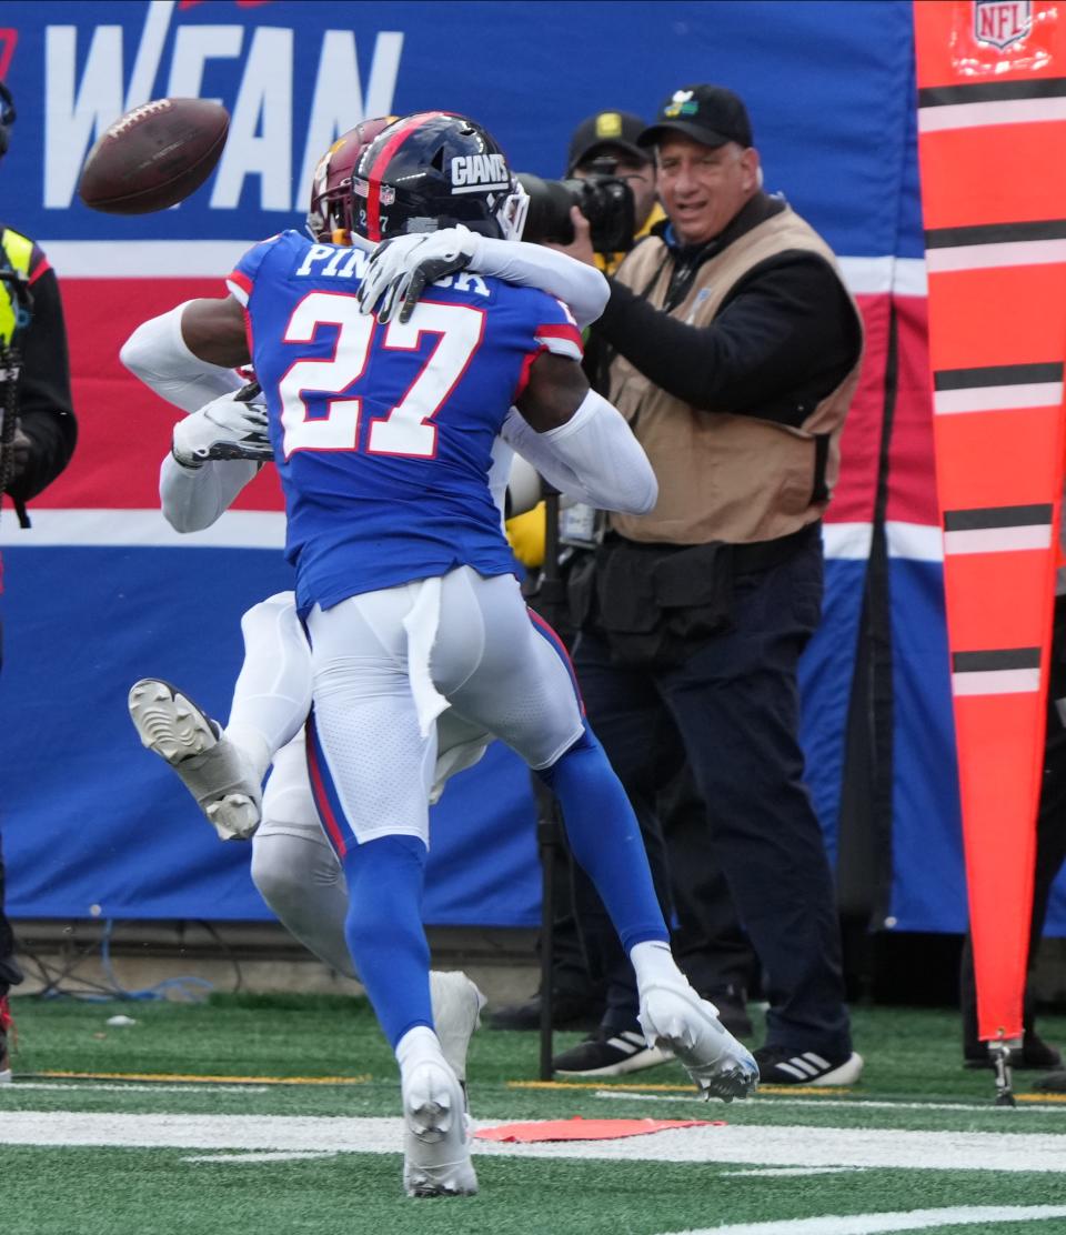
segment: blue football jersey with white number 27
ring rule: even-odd
[[[366,262],[287,231],[227,279],[269,409],[301,611],[458,566],[514,571],[493,442],[542,351],[582,354],[558,300],[467,272],[382,326],[356,303]]]

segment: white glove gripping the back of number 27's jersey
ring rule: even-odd
[[[383,241],[367,263],[367,273],[356,293],[361,312],[373,312],[380,301],[378,321],[383,326],[393,319],[398,306],[400,321],[409,321],[426,284],[471,266],[477,258],[479,241],[477,232],[463,226]]]

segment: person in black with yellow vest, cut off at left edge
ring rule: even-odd
[[[7,151],[14,121],[11,95],[0,83],[0,157]],[[59,285],[47,258],[27,236],[2,225],[0,283],[0,495],[11,499],[20,524],[27,527],[26,503],[63,471],[77,440],[67,332]],[[11,1079],[7,992],[21,981],[15,939],[4,915],[0,852],[0,1083]]]

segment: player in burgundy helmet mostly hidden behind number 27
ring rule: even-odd
[[[385,124],[363,121],[320,161],[308,214],[308,231],[320,243],[361,241],[352,230],[352,174],[362,147]],[[460,233],[456,228],[436,232],[434,240],[445,253],[450,247],[462,247],[472,270],[552,293],[572,308],[582,326],[593,321],[605,303],[606,284],[595,270],[541,246]],[[373,283],[368,278],[363,285],[367,282]],[[158,395],[190,412],[174,427],[159,492],[163,514],[172,526],[195,532],[224,514],[262,463],[272,458],[272,451],[257,404],[235,396],[242,379],[189,352],[182,336],[183,310],[180,305],[140,326],[122,348],[122,359]],[[217,390],[229,393],[201,408],[205,396]],[[500,516],[505,504],[520,513],[540,498],[537,472],[525,461],[515,461],[524,468],[508,484],[508,442],[521,432],[523,424],[518,416],[509,417],[493,448],[489,487]],[[524,450],[557,489],[574,500],[590,500],[540,435],[527,433]],[[595,482],[597,477],[588,479]],[[602,483],[605,492],[613,490],[610,475],[604,475]],[[306,771],[310,650],[296,619],[293,593],[252,606],[241,626],[245,663],[225,730],[205,718],[187,695],[159,679],[135,684],[130,695],[133,722],[145,745],[174,768],[221,839],[252,837],[252,879],[287,930],[330,968],[355,976],[345,941],[348,898],[343,871],[319,821]],[[179,709],[187,719],[178,719]],[[461,720],[453,709],[440,718],[437,727],[431,800],[439,798],[450,776],[477,762],[489,741],[483,730]],[[261,783],[272,764],[261,800]],[[479,993],[462,974],[437,972],[431,976],[431,993],[436,1028],[456,1044],[448,1060],[462,1077]]]

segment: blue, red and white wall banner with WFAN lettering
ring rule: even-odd
[[[290,582],[277,487],[257,480],[210,534],[178,538],[166,529],[154,483],[173,415],[119,366],[130,330],[190,295],[221,294],[219,280],[246,245],[299,225],[315,159],[364,116],[467,112],[515,167],[557,175],[584,116],[603,107],[650,116],[667,94],[702,80],[746,98],[767,188],[783,190],[841,256],[870,332],[826,524],[826,618],[804,666],[810,784],[834,844],[889,319],[904,301],[920,316],[924,295],[907,0],[85,0],[7,5],[4,25],[0,74],[19,121],[2,167],[2,217],[43,243],[61,277],[83,429],[70,469],[35,506],[33,530],[20,532],[9,514],[0,525],[0,808],[12,915],[267,915],[247,847],[219,845],[175,779],[141,751],[125,695],[135,678],[162,676],[226,715],[240,615]],[[173,210],[91,212],[75,186],[93,141],[122,111],[167,94],[230,110],[219,168]],[[920,331],[899,343],[921,372]],[[897,647],[903,757],[892,916],[900,929],[955,930],[963,893],[947,678],[925,672],[928,646],[942,638],[925,438],[928,406],[889,478],[889,519],[909,531],[900,553],[904,563],[917,555],[921,582],[908,588],[900,576],[893,613],[904,635],[912,619],[930,631],[920,647],[905,637]],[[534,924],[532,823],[526,772],[510,752],[494,748],[456,778],[435,808],[430,921]]]

